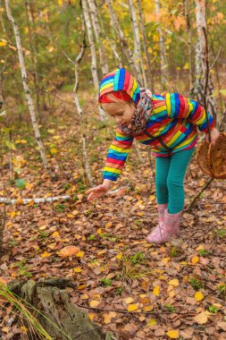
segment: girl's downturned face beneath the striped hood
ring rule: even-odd
[[[111,115],[116,123],[127,126],[136,111],[136,107],[130,106],[129,103],[103,103],[103,109],[107,115]]]

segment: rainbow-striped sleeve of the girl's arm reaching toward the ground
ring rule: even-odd
[[[103,169],[104,179],[116,181],[126,162],[133,142],[133,136],[124,135],[121,129],[117,128],[115,138],[105,160]]]

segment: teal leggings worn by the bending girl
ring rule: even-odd
[[[184,176],[193,150],[182,150],[170,157],[155,158],[157,203],[168,203],[170,214],[176,214],[184,208]]]

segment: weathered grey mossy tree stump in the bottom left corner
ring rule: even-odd
[[[62,289],[63,285],[65,288],[69,282],[63,279],[38,283],[29,280],[23,285],[13,283],[9,288],[41,311],[42,314],[37,312],[36,318],[53,340],[111,339],[110,334],[105,335],[84,310],[70,302],[68,293]]]

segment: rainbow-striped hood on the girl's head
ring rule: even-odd
[[[99,89],[99,101],[101,97],[106,93],[123,90],[130,98],[137,104],[140,98],[140,91],[138,82],[124,68],[114,70],[113,72],[107,73],[100,83]]]

